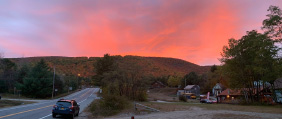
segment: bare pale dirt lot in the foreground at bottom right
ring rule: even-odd
[[[199,104],[203,105],[203,104]],[[177,108],[181,107],[181,108]],[[282,119],[281,113],[260,113],[233,110],[210,110],[198,106],[167,107],[167,111],[140,115],[117,115],[105,119]],[[171,108],[171,109],[169,109]],[[176,111],[172,111],[172,109]]]

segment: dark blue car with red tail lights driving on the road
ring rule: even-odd
[[[52,117],[56,118],[57,115],[67,115],[73,119],[75,116],[78,116],[79,110],[80,105],[78,105],[75,100],[60,99],[53,106]]]

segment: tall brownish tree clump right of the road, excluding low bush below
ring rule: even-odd
[[[146,77],[142,67],[134,60],[136,60],[134,57],[122,58],[106,54],[94,64],[97,66],[94,81],[99,81],[103,89],[103,97],[112,95],[125,96],[130,100],[146,100]],[[121,61],[127,61],[123,63],[125,66],[118,65]]]

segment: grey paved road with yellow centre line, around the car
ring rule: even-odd
[[[79,92],[73,93],[64,99],[74,99],[80,105],[82,112],[93,100],[97,99],[96,92],[98,88],[86,88]],[[42,101],[28,105],[21,105],[9,108],[0,109],[0,119],[53,119],[52,108],[58,99]],[[57,119],[65,118],[57,116]]]

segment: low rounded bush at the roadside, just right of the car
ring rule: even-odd
[[[106,95],[103,99],[96,100],[90,105],[94,117],[112,116],[129,107],[128,100],[122,96]]]

